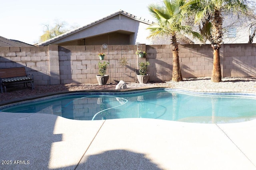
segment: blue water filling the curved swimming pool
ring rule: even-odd
[[[120,93],[74,93],[2,107],[13,113],[47,113],[78,120],[152,118],[194,123],[234,123],[256,118],[256,96],[197,94],[152,89]]]

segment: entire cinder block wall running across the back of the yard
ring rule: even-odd
[[[146,51],[138,58],[137,48]],[[211,76],[213,54],[210,45],[179,45],[180,65],[184,78]],[[97,83],[98,53],[109,62],[109,83],[137,81],[138,63],[149,61],[150,81],[172,79],[171,45],[101,45],[46,47],[0,47],[0,68],[25,66],[34,74],[35,84]],[[223,76],[256,76],[256,45],[225,44],[220,48]],[[121,61],[127,61],[121,66]],[[103,62],[103,61],[101,61]]]

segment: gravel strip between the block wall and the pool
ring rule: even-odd
[[[210,77],[201,78],[184,78],[181,82],[149,82],[147,84],[127,83],[127,88],[140,87],[168,87],[180,88],[201,92],[255,92],[256,93],[256,77],[225,77],[222,82],[214,83]],[[14,86],[7,88],[7,93],[0,94],[0,101],[7,101],[15,98],[23,98],[50,92],[64,92],[77,90],[94,90],[94,89],[115,89],[116,84],[106,84],[100,86],[98,84],[59,84],[52,86],[35,86],[34,90],[29,87]]]

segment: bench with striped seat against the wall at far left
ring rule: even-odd
[[[0,86],[1,93],[3,93],[3,87],[6,92],[6,86],[14,84],[24,84],[28,86],[31,83],[32,89],[34,89],[34,76],[33,74],[26,74],[25,67],[14,68],[0,68]]]

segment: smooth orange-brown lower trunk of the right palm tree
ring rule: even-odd
[[[212,82],[221,82],[220,48],[213,47]]]

